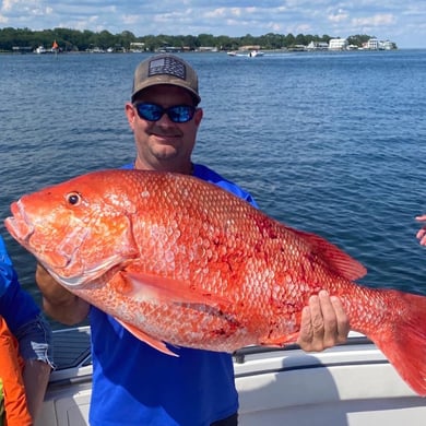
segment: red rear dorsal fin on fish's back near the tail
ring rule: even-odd
[[[363,264],[327,239],[304,230],[293,230],[304,239],[307,239],[312,246],[312,252],[322,258],[330,269],[344,279],[354,281],[362,279],[367,273]]]

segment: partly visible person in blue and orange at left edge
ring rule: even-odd
[[[0,237],[0,401],[9,426],[32,425],[42,409],[52,366],[50,338],[50,328],[21,288]]]

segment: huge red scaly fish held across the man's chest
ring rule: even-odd
[[[69,291],[162,352],[295,342],[310,295],[338,295],[426,395],[426,297],[353,281],[365,269],[197,178],[105,170],[23,196],[12,236]]]

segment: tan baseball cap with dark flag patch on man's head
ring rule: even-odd
[[[139,92],[156,84],[184,87],[191,93],[197,104],[201,100],[197,72],[178,56],[162,54],[142,61],[134,71],[132,102]]]

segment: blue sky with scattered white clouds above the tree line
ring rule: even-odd
[[[383,4],[384,3],[384,4]],[[144,35],[355,34],[426,48],[425,0],[2,0],[0,28]]]

